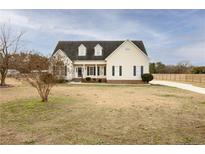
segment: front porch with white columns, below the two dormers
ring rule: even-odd
[[[105,64],[78,64],[74,65],[74,77],[77,79],[85,79],[87,77],[95,79],[106,78],[106,65]]]

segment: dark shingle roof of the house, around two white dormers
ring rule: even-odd
[[[104,60],[123,42],[124,41],[59,41],[53,54],[61,49],[71,60]],[[147,55],[142,41],[132,42]],[[86,56],[78,56],[78,47],[81,44],[86,47]],[[94,48],[97,44],[103,47],[102,56],[94,55]]]

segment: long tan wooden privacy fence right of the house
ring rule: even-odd
[[[205,74],[153,74],[156,80],[205,83]]]

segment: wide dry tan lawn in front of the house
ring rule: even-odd
[[[1,144],[205,144],[205,95],[150,85],[0,88]]]

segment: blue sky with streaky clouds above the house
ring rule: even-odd
[[[59,40],[142,40],[151,61],[205,65],[205,10],[0,10],[44,55]]]

